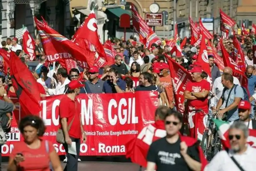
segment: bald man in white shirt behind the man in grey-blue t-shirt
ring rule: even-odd
[[[232,75],[233,71],[230,67],[225,67],[224,70],[223,70],[223,73],[229,73]],[[240,85],[240,82],[239,80],[233,76],[233,83],[234,84],[237,84],[237,85]],[[215,81],[213,82],[213,85],[212,85],[212,93],[216,94],[217,97],[220,99],[221,95],[222,95],[222,91],[224,89],[224,86],[222,85],[221,83],[221,76],[216,78]],[[213,97],[210,101],[210,107],[212,108],[212,110],[215,110],[215,107],[218,103],[218,99],[216,97]],[[220,109],[222,108],[225,108],[225,104],[223,103],[223,105],[220,107]]]

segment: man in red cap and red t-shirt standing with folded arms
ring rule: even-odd
[[[191,137],[202,140],[208,114],[208,94],[210,83],[201,77],[202,68],[195,66],[192,70],[193,81],[188,82],[184,92],[188,100],[188,123]],[[194,109],[202,109],[204,112],[195,112]],[[205,114],[204,114],[205,113]]]

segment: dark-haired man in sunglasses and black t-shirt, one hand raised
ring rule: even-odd
[[[164,123],[166,136],[154,141],[148,150],[147,171],[175,170],[175,171],[200,171],[201,158],[195,145],[196,140],[180,136],[183,116],[170,110],[165,115]],[[192,142],[189,144],[188,142]],[[189,145],[188,145],[189,144]]]

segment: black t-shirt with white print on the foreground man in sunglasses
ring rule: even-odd
[[[186,161],[180,154],[180,138],[174,144],[167,142],[166,138],[154,141],[148,150],[147,161],[156,163],[156,171],[191,171]],[[188,147],[188,155],[200,162],[196,146]]]

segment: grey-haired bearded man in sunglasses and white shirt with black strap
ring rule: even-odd
[[[247,145],[249,130],[241,121],[235,121],[228,130],[230,149],[218,152],[204,171],[254,171],[256,149]]]

